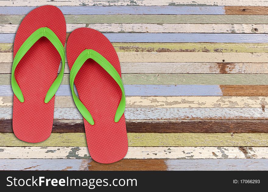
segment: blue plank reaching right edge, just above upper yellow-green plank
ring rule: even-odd
[[[268,34],[244,33],[103,33],[111,42],[267,43]],[[15,33],[1,33],[0,43],[13,43]]]

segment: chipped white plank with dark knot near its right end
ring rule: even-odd
[[[268,9],[268,8],[267,8]],[[0,24],[0,33],[16,33],[18,24]],[[267,24],[66,24],[67,33],[88,27],[101,33],[268,33]]]

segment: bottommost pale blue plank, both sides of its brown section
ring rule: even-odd
[[[91,161],[92,159],[1,159],[0,170],[90,170],[88,164]],[[268,159],[167,159],[164,162],[170,171],[268,170]],[[156,166],[155,170],[158,169]]]

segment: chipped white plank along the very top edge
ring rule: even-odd
[[[218,0],[218,1],[211,1],[211,0],[138,0],[138,1],[131,1],[131,0],[119,0],[119,1],[109,1],[109,0],[69,0],[68,2],[65,1],[51,1],[47,2],[45,0],[37,0],[37,1],[30,1],[30,0],[13,0],[8,1],[4,0],[1,6],[42,6],[42,5],[54,5],[54,6],[153,6],[153,5],[168,5],[168,6],[206,6],[206,5],[214,5],[214,6],[237,6],[237,5],[244,5],[244,6],[252,6],[252,5],[260,5],[260,6],[268,6],[266,0],[243,0],[243,1],[230,1],[230,0]]]

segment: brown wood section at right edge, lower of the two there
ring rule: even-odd
[[[223,96],[268,96],[268,85],[220,85]]]

